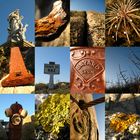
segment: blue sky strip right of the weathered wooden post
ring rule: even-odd
[[[93,98],[98,99],[104,97],[104,94],[93,94]],[[99,139],[105,139],[105,103],[95,105],[96,116],[99,126]]]

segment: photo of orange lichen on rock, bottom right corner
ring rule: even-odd
[[[105,139],[140,139],[140,94],[105,95]]]

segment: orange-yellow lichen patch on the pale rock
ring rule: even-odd
[[[137,121],[136,114],[114,114],[110,121],[110,128],[116,132],[124,132],[131,124]]]

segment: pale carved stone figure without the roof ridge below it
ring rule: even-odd
[[[18,42],[26,39],[25,32],[28,25],[23,26],[22,19],[23,16],[20,16],[19,9],[9,14],[8,41]]]

